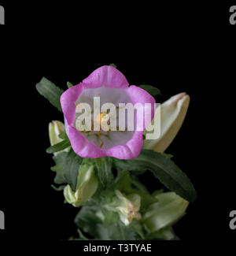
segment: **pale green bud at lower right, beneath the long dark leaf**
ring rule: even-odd
[[[158,202],[149,206],[142,216],[142,222],[146,224],[150,232],[157,232],[161,228],[174,224],[183,216],[189,204],[175,192],[162,193],[156,195],[155,198],[158,199]]]

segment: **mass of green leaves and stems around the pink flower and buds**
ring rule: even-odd
[[[72,83],[68,83],[72,87]],[[151,86],[141,86],[153,95],[160,91]],[[46,78],[36,85],[41,95],[48,99],[53,106],[61,111],[60,97],[63,93],[59,87]],[[120,160],[117,158],[81,158],[76,154],[65,131],[59,135],[62,141],[51,147],[46,152],[53,154],[55,165],[51,170],[56,173],[52,185],[57,191],[64,190],[69,185],[72,191],[76,191],[81,165],[93,165],[95,175],[98,177],[98,189],[95,194],[83,204],[76,215],[75,223],[78,227],[79,239],[178,239],[171,226],[160,229],[158,232],[150,232],[146,224],[139,220],[133,220],[131,224],[124,225],[120,221],[116,211],[109,210],[107,206],[114,198],[114,191],[119,190],[124,195],[137,194],[141,198],[139,213],[144,214],[149,206],[157,202],[146,186],[140,182],[140,174],[149,171],[153,173],[160,183],[170,191],[174,191],[188,202],[194,202],[196,192],[186,174],[183,173],[171,157],[153,150],[142,150],[138,158]],[[67,149],[67,150],[66,150]],[[60,154],[55,154],[60,152]],[[73,239],[73,238],[72,238]]]

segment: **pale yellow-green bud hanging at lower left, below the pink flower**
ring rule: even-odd
[[[95,176],[93,165],[80,165],[77,178],[76,192],[67,185],[64,188],[66,202],[78,207],[94,195],[98,188],[98,178]]]

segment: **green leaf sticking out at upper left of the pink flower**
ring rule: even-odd
[[[57,87],[45,77],[42,77],[42,80],[36,84],[36,89],[40,95],[44,96],[53,106],[62,112],[60,98],[64,91],[61,88]]]

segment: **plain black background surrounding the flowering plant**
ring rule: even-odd
[[[235,2],[50,3],[0,2],[6,9],[0,27],[0,210],[6,230],[0,243],[76,234],[77,210],[50,187],[53,161],[45,152],[49,122],[63,117],[35,84],[45,76],[66,89],[67,81],[77,84],[110,63],[130,84],[157,86],[163,95],[157,102],[190,95],[186,121],[167,153],[198,197],[175,232],[186,243],[233,243],[236,25],[229,24],[229,8]],[[157,185],[153,180],[149,187]]]

